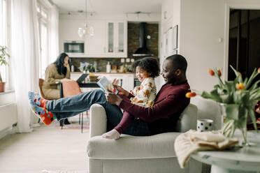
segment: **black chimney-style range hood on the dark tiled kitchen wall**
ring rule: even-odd
[[[133,57],[152,57],[152,54],[146,47],[146,23],[140,23],[139,48],[133,53]]]

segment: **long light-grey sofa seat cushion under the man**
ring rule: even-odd
[[[95,159],[136,159],[176,157],[175,138],[180,133],[136,137],[121,135],[119,140],[106,140],[101,136],[92,137],[87,145],[89,158]]]

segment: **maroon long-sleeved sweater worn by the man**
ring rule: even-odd
[[[182,84],[164,84],[157,93],[152,107],[141,107],[123,99],[120,108],[146,121],[151,135],[173,132],[180,114],[189,105],[190,99],[185,97],[187,92],[187,81]],[[133,95],[129,94],[129,98],[131,97]]]

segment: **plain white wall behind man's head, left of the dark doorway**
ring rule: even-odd
[[[182,0],[180,54],[187,58],[187,79],[192,89],[210,91],[217,83],[208,68],[224,68],[224,0]]]

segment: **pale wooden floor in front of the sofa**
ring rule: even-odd
[[[78,123],[78,116],[70,121]],[[80,129],[61,130],[57,123],[34,128],[32,133],[8,135],[0,140],[0,172],[87,170],[88,139],[88,129],[83,133]]]

